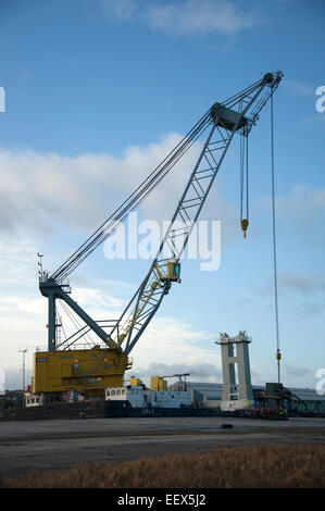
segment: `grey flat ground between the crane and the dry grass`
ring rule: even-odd
[[[232,428],[224,428],[224,424]],[[110,463],[218,447],[325,444],[324,419],[89,419],[0,422],[0,481],[77,463]]]

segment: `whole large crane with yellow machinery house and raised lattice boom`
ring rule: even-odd
[[[51,274],[43,271],[40,259],[39,289],[48,299],[48,349],[34,354],[34,394],[43,394],[54,400],[72,390],[84,392],[85,397],[103,397],[105,389],[124,386],[125,371],[132,366],[132,350],[172,285],[180,283],[182,254],[234,136],[247,140],[282,77],[282,72],[266,73],[226,101],[215,102],[121,207],[58,270]],[[128,213],[145,201],[175,163],[199,140],[202,150],[146,277],[121,316],[102,326],[71,297],[72,289],[66,278],[114,232],[117,223],[124,222]],[[246,232],[248,219],[242,222]],[[167,258],[163,257],[166,248],[171,253]],[[62,341],[58,335],[58,301],[64,303],[84,324]],[[89,332],[97,338],[93,347],[77,349],[77,341]]]

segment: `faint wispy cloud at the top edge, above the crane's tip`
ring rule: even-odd
[[[101,0],[109,18],[143,23],[154,32],[173,36],[192,34],[235,34],[251,28],[260,20],[247,9],[239,10],[229,0],[185,0],[177,2],[139,2]]]

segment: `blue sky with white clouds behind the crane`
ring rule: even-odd
[[[54,271],[164,158],[203,112],[268,72],[275,96],[276,225],[283,382],[315,385],[325,366],[324,3],[320,0],[1,0],[0,369],[28,377],[47,344],[37,252]],[[198,148],[140,212],[168,220]],[[189,372],[221,382],[220,332],[252,336],[253,384],[276,381],[270,107],[250,136],[250,227],[239,225],[234,142],[202,220],[221,221],[221,266],[184,261],[132,352],[133,373]],[[115,319],[149,261],[99,248],[71,276],[96,320]],[[62,317],[65,328],[68,317]],[[66,322],[66,323],[65,323]],[[62,334],[63,335],[63,334]]]

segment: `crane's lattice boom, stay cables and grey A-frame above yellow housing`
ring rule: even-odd
[[[224,102],[214,102],[134,192],[53,273],[50,274],[42,270],[41,256],[39,256],[39,289],[48,298],[48,353],[68,350],[76,340],[91,331],[105,346],[104,353],[107,357],[111,356],[110,363],[107,364],[108,371],[110,372],[110,367],[116,369],[118,366],[118,374],[124,375],[124,371],[129,366],[129,353],[157,313],[163,298],[170,292],[172,285],[180,282],[179,261],[182,254],[235,134],[243,139],[248,138],[261,110],[273,96],[282,77],[283,73],[280,71],[266,73],[261,79]],[[95,321],[73,300],[71,297],[72,289],[66,283],[66,278],[98,246],[115,232],[118,223],[124,222],[128,213],[139,208],[171,172],[175,163],[199,139],[203,139],[201,152],[147,275],[117,321],[110,322],[107,328],[101,326],[100,322]],[[246,233],[248,227],[246,219],[241,221],[241,226]],[[171,254],[168,257],[165,257],[166,248]],[[58,299],[72,309],[85,323],[85,326],[64,341],[60,341],[57,335],[55,301]],[[46,357],[38,358],[39,360],[46,360]],[[104,358],[103,360],[109,359]],[[67,371],[66,374],[70,374],[70,377],[73,378],[74,375],[76,376],[77,371],[75,373]]]

